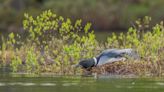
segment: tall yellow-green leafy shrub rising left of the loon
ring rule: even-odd
[[[93,50],[97,41],[94,31],[90,30],[91,23],[85,26],[82,26],[82,20],[72,23],[69,18],[57,16],[48,10],[37,17],[25,14],[23,25],[28,31],[27,42],[32,46],[36,45],[39,52],[43,50],[45,62],[49,62],[46,58],[50,57],[51,63],[54,63],[55,67],[60,67],[62,72],[77,63],[80,58],[95,55]],[[84,36],[81,36],[80,32],[84,32]],[[82,54],[85,56],[81,56]],[[32,62],[34,61],[36,60]]]

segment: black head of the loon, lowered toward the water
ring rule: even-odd
[[[84,69],[92,68],[95,66],[94,58],[81,60],[76,67],[82,67]]]

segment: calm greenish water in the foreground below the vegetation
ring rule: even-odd
[[[162,78],[46,76],[1,75],[0,92],[164,92]]]

